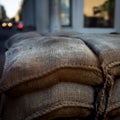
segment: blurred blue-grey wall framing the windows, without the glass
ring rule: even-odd
[[[57,23],[54,21],[55,16],[51,17],[49,2],[52,0],[24,0],[23,5],[23,22],[25,25],[35,26],[40,33],[56,31]],[[55,1],[55,0],[54,0]],[[61,27],[61,31],[77,31],[82,33],[111,33],[120,32],[120,0],[116,1],[115,7],[115,27],[111,29],[87,29],[83,27],[83,7],[84,0],[72,0],[72,26]],[[54,8],[55,10],[56,8]],[[52,13],[58,13],[55,11]],[[58,17],[57,17],[58,18]],[[53,22],[54,21],[54,22]]]

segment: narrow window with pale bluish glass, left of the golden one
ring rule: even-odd
[[[60,1],[60,22],[62,26],[71,26],[71,0]]]

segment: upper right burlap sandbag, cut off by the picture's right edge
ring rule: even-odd
[[[105,74],[120,76],[120,35],[113,34],[76,34],[99,57]]]

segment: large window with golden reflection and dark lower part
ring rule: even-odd
[[[115,0],[84,0],[85,28],[113,28]]]

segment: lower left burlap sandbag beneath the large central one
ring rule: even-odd
[[[87,117],[94,110],[94,88],[77,83],[61,82],[43,91],[3,98],[4,120]]]

